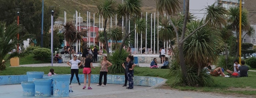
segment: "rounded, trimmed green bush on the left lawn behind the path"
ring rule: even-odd
[[[47,48],[37,48],[33,50],[34,58],[36,60],[51,60],[51,50]]]

